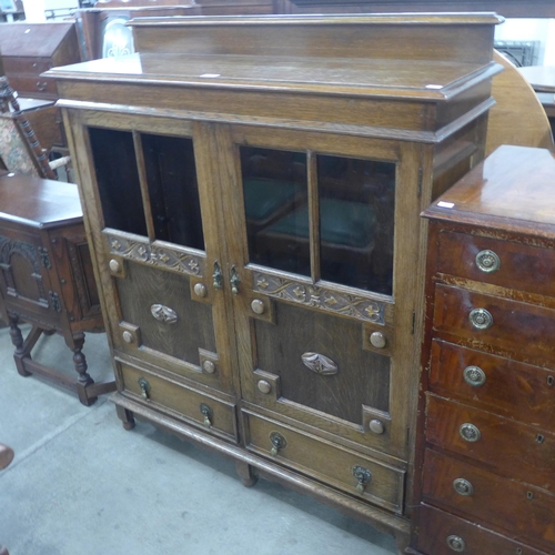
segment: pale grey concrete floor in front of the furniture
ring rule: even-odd
[[[27,331],[27,330],[26,330]],[[95,381],[111,375],[105,335],[88,334]],[[234,464],[138,423],[104,396],[92,407],[21,377],[0,329],[0,544],[10,555],[387,555],[392,537],[278,484],[245,488]],[[59,336],[34,359],[72,373]]]

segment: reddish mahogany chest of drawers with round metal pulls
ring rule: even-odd
[[[555,552],[554,183],[502,147],[424,213],[415,553]]]

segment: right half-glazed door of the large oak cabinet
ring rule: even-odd
[[[220,133],[246,410],[405,457],[416,153],[324,133]]]

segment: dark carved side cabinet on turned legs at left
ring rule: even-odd
[[[84,405],[114,391],[94,383],[82,353],[84,332],[102,331],[99,295],[78,189],[28,175],[0,175],[0,315],[10,325],[18,372],[77,392]],[[23,339],[20,322],[32,325]],[[31,357],[42,334],[61,334],[77,380]]]

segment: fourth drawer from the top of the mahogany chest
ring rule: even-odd
[[[555,491],[554,434],[428,394],[426,440],[505,476]]]

